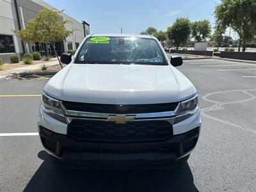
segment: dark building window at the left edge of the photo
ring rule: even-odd
[[[15,52],[12,35],[0,35],[0,53]]]

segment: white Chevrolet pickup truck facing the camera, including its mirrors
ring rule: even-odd
[[[38,130],[54,163],[186,163],[200,134],[198,95],[154,36],[95,34],[45,85]]]

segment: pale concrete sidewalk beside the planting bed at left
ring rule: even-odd
[[[45,61],[45,64],[50,67],[53,65],[59,65],[59,61]],[[11,64],[12,65],[12,64]],[[26,65],[26,67],[19,67],[19,68],[12,68],[10,70],[4,70],[2,72],[0,72],[0,79],[12,76],[13,74],[19,74],[22,72],[27,72],[27,71],[31,71],[31,70],[36,70],[38,68],[41,68],[42,63],[39,64],[34,64],[34,65]]]

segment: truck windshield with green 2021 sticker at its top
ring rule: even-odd
[[[156,40],[123,36],[88,38],[75,63],[168,65]]]

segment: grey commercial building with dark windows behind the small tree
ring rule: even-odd
[[[33,19],[42,8],[51,10],[54,7],[42,0],[0,0],[0,57],[4,62],[10,61],[12,54],[22,56],[26,52],[37,51],[42,56],[54,55],[50,44],[24,44],[12,32],[12,29],[26,28],[26,22]],[[83,38],[90,34],[90,25],[87,22],[79,22],[65,13],[60,15],[63,20],[71,21],[65,27],[74,32],[64,42],[56,43],[58,54],[77,49]]]

